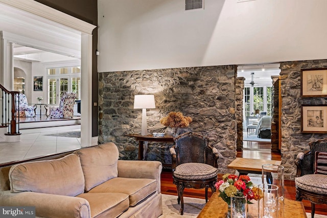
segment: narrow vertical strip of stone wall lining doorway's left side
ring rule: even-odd
[[[237,142],[236,150],[243,150],[243,92],[244,77],[236,78],[236,120],[237,120]]]

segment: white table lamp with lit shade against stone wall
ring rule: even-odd
[[[134,109],[142,109],[142,133],[148,135],[147,109],[155,108],[153,94],[137,94],[134,96]]]

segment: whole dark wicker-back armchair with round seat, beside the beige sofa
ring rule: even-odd
[[[174,138],[172,155],[173,183],[177,187],[180,214],[183,215],[184,188],[205,188],[205,202],[208,201],[208,187],[216,191],[218,174],[218,150],[208,145],[208,139],[197,133],[186,132]]]

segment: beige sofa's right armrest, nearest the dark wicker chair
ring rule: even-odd
[[[118,160],[118,177],[156,179],[158,193],[161,192],[161,171],[162,164],[159,161]]]

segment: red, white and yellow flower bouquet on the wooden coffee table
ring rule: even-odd
[[[219,189],[221,197],[228,206],[230,205],[231,195],[247,195],[247,203],[252,199],[258,200],[263,197],[263,193],[255,186],[251,181],[250,177],[246,175],[237,176],[235,174],[225,174],[222,180],[215,184],[215,187]]]

